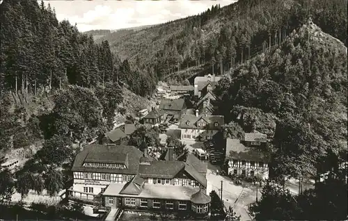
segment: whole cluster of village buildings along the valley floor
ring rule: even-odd
[[[137,128],[137,124],[122,124],[106,133],[109,145],[87,145],[77,154],[70,199],[82,198],[111,208],[183,211],[199,216],[209,213],[211,202],[205,160],[225,163],[228,174],[259,174],[266,179],[269,156],[260,149],[267,145],[267,135],[245,133],[242,140],[224,139],[223,147],[209,142],[225,124],[222,115],[215,115],[219,97],[213,89],[219,79],[209,74],[196,77],[193,86],[171,86],[170,94],[180,98],[161,99],[158,108],[142,112],[145,126],[176,122],[181,140],[205,142],[205,149],[176,156],[173,147],[166,147],[161,156],[152,157],[150,147],[116,145]]]

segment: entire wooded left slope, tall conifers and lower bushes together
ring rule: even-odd
[[[62,136],[78,133],[82,140],[93,139],[112,126],[122,102],[120,85],[145,97],[157,82],[127,60],[122,63],[109,42],[96,44],[68,21],[58,22],[54,9],[35,0],[1,3],[0,38],[0,150],[12,143],[27,147],[59,131]],[[79,106],[69,106],[65,99],[93,103],[89,106],[96,112],[90,113],[102,115],[86,122]]]

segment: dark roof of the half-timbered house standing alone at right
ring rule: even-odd
[[[262,152],[255,147],[246,147],[240,140],[226,139],[226,158],[242,161],[269,162],[268,153]]]

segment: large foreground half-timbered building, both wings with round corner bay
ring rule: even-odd
[[[207,215],[210,197],[202,166],[154,161],[147,153],[133,146],[86,146],[72,166],[70,199],[109,208]]]

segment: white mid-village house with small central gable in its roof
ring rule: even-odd
[[[224,124],[224,117],[221,115],[182,115],[179,129],[182,140],[211,140],[219,132]]]

